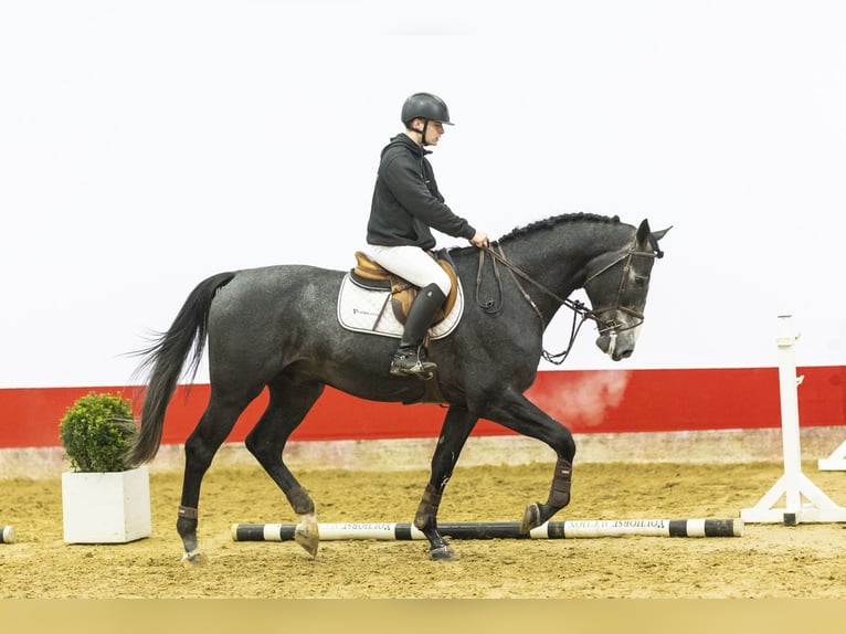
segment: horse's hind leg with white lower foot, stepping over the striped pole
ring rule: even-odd
[[[271,399],[262,418],[246,437],[246,448],[282,489],[294,513],[299,515],[294,539],[311,557],[317,556],[320,535],[315,503],[282,459],[292,432],[306,416],[324,391],[324,384],[311,379],[283,377],[271,383]]]

